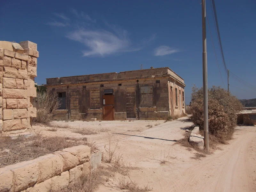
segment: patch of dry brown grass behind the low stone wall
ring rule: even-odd
[[[97,149],[95,143],[63,137],[44,138],[40,134],[28,138],[20,136],[17,139],[0,137],[0,167],[35,159],[76,145],[88,145],[92,147],[91,150]]]

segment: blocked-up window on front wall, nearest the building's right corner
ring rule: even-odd
[[[140,87],[141,102],[140,107],[153,107],[153,88],[152,86]]]

